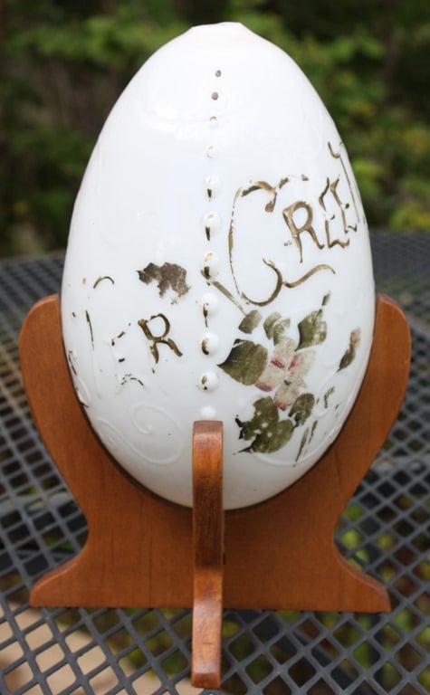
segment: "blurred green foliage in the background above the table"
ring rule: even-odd
[[[0,254],[65,245],[91,148],[129,79],[190,25],[219,21],[243,22],[308,75],[370,225],[430,229],[428,0],[6,0]]]

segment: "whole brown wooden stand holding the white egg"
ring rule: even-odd
[[[405,395],[410,335],[394,301],[377,298],[368,371],[329,451],[271,500],[225,513],[221,423],[194,426],[193,509],[110,457],[72,386],[57,295],[29,312],[20,355],[33,419],[89,527],[81,553],[33,586],[32,605],[193,607],[192,681],[203,688],[221,681],[223,607],[389,610],[385,587],[341,557],[333,533]]]

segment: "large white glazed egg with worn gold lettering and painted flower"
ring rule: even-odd
[[[221,420],[225,508],[265,500],[339,433],[373,323],[365,215],[309,81],[241,24],[167,43],[112,109],[72,216],[63,339],[101,441],[190,505],[193,422]]]

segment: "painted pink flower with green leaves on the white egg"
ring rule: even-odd
[[[225,374],[244,386],[256,386],[263,393],[270,394],[258,398],[253,403],[253,417],[245,422],[236,418],[240,428],[240,439],[250,442],[243,452],[277,452],[288,443],[297,427],[309,421],[315,405],[315,395],[306,390],[306,375],[315,362],[316,349],[327,338],[327,323],[323,309],[330,300],[325,295],[320,309],[311,311],[297,326],[297,338],[291,338],[287,331],[291,320],[273,312],[263,323],[266,337],[272,341],[269,351],[252,340],[237,338],[234,345],[219,367]],[[242,320],[239,329],[252,333],[260,323],[261,315],[253,310]],[[349,367],[359,344],[360,330],[351,332],[349,346],[339,360],[340,369]],[[324,407],[333,393],[333,387],[324,395]],[[286,414],[286,417],[280,415]],[[307,427],[301,439],[297,458],[306,443],[311,441],[317,421]]]

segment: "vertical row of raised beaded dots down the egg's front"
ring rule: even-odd
[[[215,102],[217,102],[217,105],[219,104],[220,100],[220,92],[218,90],[218,84],[219,81],[222,77],[222,71],[221,70],[215,70],[214,72],[214,77],[215,77],[215,89],[212,90],[210,94],[210,98],[213,102],[213,106],[215,106]],[[210,129],[212,132],[215,132],[215,129],[217,128],[217,116],[214,114],[210,116]],[[209,142],[207,148],[206,148],[206,158],[209,162],[212,162],[216,156],[217,156],[217,151],[216,151],[216,146],[214,142],[215,138],[211,138],[211,141]],[[216,198],[216,195],[218,195],[219,192],[219,186],[220,186],[220,180],[219,176],[216,175],[214,169],[212,168],[212,171],[209,171],[208,176],[205,177],[205,198],[206,202],[208,204],[208,210],[203,216],[203,227],[204,227],[204,233],[205,233],[205,239],[208,244],[211,243],[213,236],[215,236],[217,233],[220,232],[221,230],[221,219],[219,214],[217,214],[215,210],[215,206],[213,205],[213,201]],[[204,273],[208,273],[210,277],[214,277],[217,271],[217,255],[214,251],[212,251],[209,247],[208,251],[205,253],[204,257]],[[205,334],[202,337],[201,341],[201,349],[202,352],[207,355],[207,356],[212,356],[215,354],[216,349],[218,347],[219,340],[215,333],[212,331],[208,330],[208,319],[210,318],[211,315],[214,315],[216,312],[216,308],[218,305],[218,298],[215,296],[215,294],[211,291],[208,291],[205,294],[205,297],[203,298],[203,315],[205,319]],[[201,387],[203,388],[204,391],[206,392],[211,392],[214,391],[215,388],[218,386],[218,376],[216,373],[212,370],[207,370],[205,373],[201,376]],[[212,419],[216,417],[215,409],[210,406],[210,405],[205,405],[205,407],[202,408],[201,415],[204,419]]]

